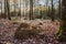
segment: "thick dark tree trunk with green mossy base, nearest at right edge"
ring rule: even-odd
[[[62,21],[63,24],[61,25],[59,30],[59,41],[66,41],[66,0],[63,0],[63,14],[62,14]]]

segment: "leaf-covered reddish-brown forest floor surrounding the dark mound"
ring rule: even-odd
[[[23,41],[19,41],[14,38],[14,32],[20,26],[20,24],[29,23],[30,25],[36,25],[40,26],[42,30],[44,30],[44,33],[47,35],[46,37],[38,38],[28,38]],[[56,20],[55,22],[52,22],[51,20],[22,20],[20,23],[14,23],[10,20],[0,20],[0,43],[2,44],[63,44],[57,41],[56,33],[59,31],[59,22]]]

